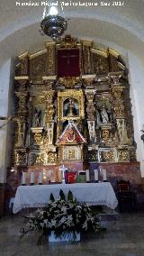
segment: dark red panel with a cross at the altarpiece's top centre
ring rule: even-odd
[[[58,50],[58,78],[79,76],[79,50]]]

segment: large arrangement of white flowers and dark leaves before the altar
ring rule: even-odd
[[[30,230],[42,231],[42,234],[54,232],[56,237],[73,233],[73,240],[75,233],[100,231],[99,219],[92,214],[90,207],[79,204],[71,191],[68,192],[66,199],[62,190],[57,200],[51,194],[47,208],[38,209],[34,216],[28,218],[28,224]]]

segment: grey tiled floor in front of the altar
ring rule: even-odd
[[[20,239],[22,217],[0,219],[0,256],[144,256],[144,213],[122,214],[107,231],[76,244],[36,245],[38,234]]]

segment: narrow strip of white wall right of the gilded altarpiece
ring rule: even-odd
[[[130,66],[130,98],[133,114],[134,138],[137,143],[137,160],[140,162],[141,177],[144,177],[144,143],[140,139],[144,129],[144,69],[131,52],[129,56]]]

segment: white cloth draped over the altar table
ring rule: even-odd
[[[87,203],[90,206],[108,206],[114,209],[118,205],[109,182],[20,186],[14,197],[14,214],[23,208],[47,206],[50,193],[56,199],[60,189],[65,195],[71,190],[78,202]]]

